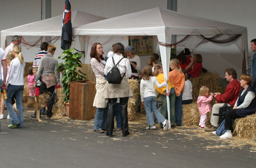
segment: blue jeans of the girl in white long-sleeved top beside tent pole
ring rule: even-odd
[[[148,126],[155,124],[151,111],[153,111],[155,118],[158,120],[158,123],[162,123],[164,120],[166,120],[156,107],[155,96],[144,97],[144,107],[146,111]]]

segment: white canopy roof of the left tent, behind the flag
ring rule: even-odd
[[[78,27],[79,25],[104,20],[106,18],[88,14],[86,12],[72,11],[71,19],[72,27],[74,28]],[[61,36],[62,21],[63,15],[59,15],[53,18],[35,21],[33,23],[28,23],[20,25],[18,27],[2,30],[1,48],[5,49],[5,47],[10,44],[10,36],[15,35],[22,36],[24,38],[23,45],[28,47],[35,46],[37,44],[40,46],[40,39],[42,37],[51,37],[51,40],[57,39]],[[7,37],[9,37],[9,41],[7,41]],[[73,35],[73,37],[76,36]],[[82,42],[81,46],[84,48],[84,42]]]

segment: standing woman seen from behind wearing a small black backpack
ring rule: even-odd
[[[118,63],[120,59],[123,58],[125,54],[125,47],[121,43],[115,43],[112,45],[112,49],[114,52],[114,62]],[[104,74],[107,75],[108,72],[113,67],[113,59],[108,59],[106,62],[106,67],[104,70]],[[133,93],[131,92],[130,85],[128,83],[128,78],[131,77],[131,66],[130,61],[127,58],[123,58],[121,62],[117,65],[118,70],[120,71],[121,76],[125,74],[123,77],[121,84],[108,84],[108,94],[106,98],[109,98],[109,111],[108,111],[108,122],[107,122],[107,132],[106,136],[112,137],[113,128],[114,128],[114,117],[115,117],[115,104],[117,102],[117,98],[120,98],[120,107],[121,107],[121,127],[123,137],[130,135],[128,131],[128,111],[127,104],[129,97],[133,97]]]

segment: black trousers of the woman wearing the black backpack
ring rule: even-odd
[[[120,98],[120,108],[121,108],[121,128],[123,133],[129,133],[129,127],[128,127],[128,100],[129,97],[122,97]],[[117,98],[109,98],[108,106],[108,120],[107,120],[107,126],[106,126],[106,133],[109,133],[112,135],[113,129],[114,129],[114,117],[115,117],[115,104],[117,102]]]

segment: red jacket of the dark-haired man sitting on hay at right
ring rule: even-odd
[[[240,90],[240,82],[237,79],[233,79],[228,85],[226,85],[225,93],[216,96],[216,101],[234,106],[239,96]]]

